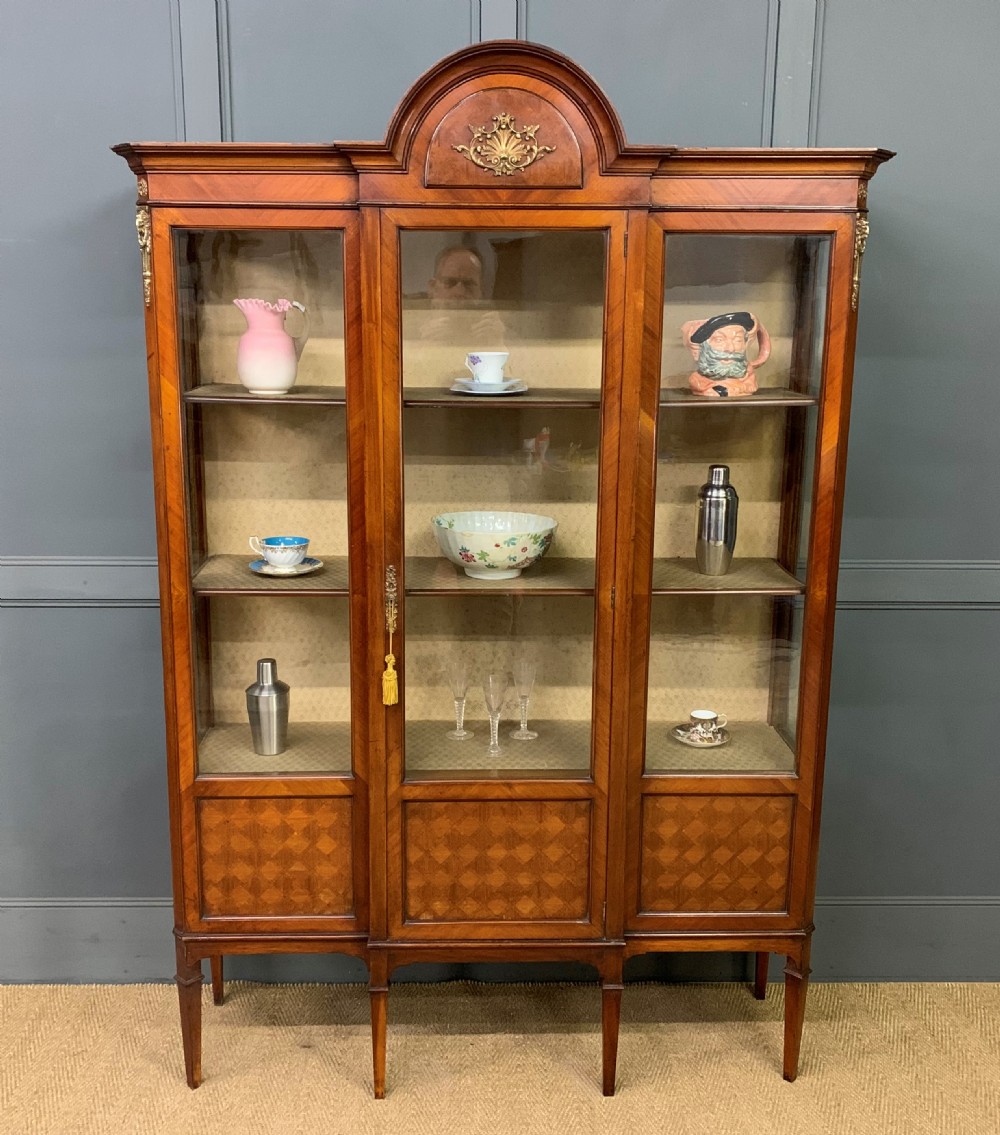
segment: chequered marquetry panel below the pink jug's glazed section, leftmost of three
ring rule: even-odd
[[[348,915],[351,808],[338,799],[202,799],[205,918]]]

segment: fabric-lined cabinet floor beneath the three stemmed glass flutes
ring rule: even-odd
[[[447,698],[444,704],[451,707]],[[467,717],[465,729],[476,734],[468,741],[446,737],[448,730],[455,728],[453,718],[407,722],[406,779],[589,776],[589,721],[532,721],[529,716],[528,728],[538,733],[533,741],[515,741],[510,737],[518,724],[511,720],[501,722],[501,751],[491,757],[488,721]]]

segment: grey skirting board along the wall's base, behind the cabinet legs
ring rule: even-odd
[[[169,981],[175,968],[171,906],[168,898],[0,898],[0,981]],[[822,933],[814,981],[1000,980],[1000,959],[991,968],[982,952],[974,957],[955,947],[1000,938],[1000,896],[817,897],[816,924]],[[862,926],[869,938],[859,935]],[[636,980],[741,980],[733,976],[736,957],[706,955],[686,966],[687,956],[646,956],[635,961]],[[773,981],[780,980],[782,964],[775,962]],[[419,968],[413,980],[455,976],[454,967]],[[476,970],[479,981],[526,980],[519,967],[484,965]],[[229,974],[267,982],[364,981],[355,959],[336,956],[233,958]]]

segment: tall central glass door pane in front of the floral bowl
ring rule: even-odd
[[[606,244],[401,234],[410,776],[589,771]]]

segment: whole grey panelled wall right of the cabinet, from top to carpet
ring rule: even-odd
[[[824,7],[813,141],[898,157],[872,188],[820,893],[847,973],[997,978],[1000,6]]]

